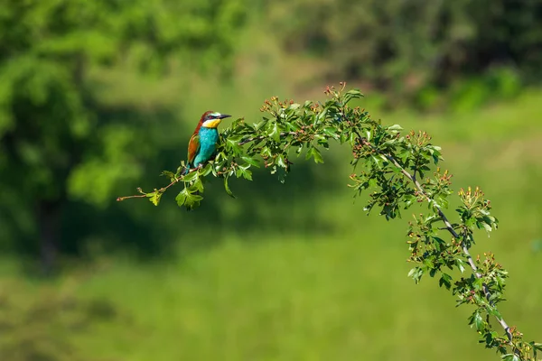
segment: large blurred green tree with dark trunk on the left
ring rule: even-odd
[[[244,12],[243,0],[0,0],[3,244],[39,243],[50,271],[67,202],[103,207],[141,175],[182,67],[227,73]]]

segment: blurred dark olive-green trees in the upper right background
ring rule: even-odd
[[[330,60],[332,79],[403,94],[495,65],[542,79],[539,0],[279,0],[266,1],[266,14],[288,51]]]

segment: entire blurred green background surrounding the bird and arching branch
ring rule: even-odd
[[[115,201],[165,184],[204,111],[344,80],[485,190],[473,253],[542,341],[541,63],[539,0],[0,0],[0,360],[496,359],[406,277],[407,219],[353,201],[348,149],[190,213]]]

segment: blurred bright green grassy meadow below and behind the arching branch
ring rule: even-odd
[[[257,109],[257,96],[256,91],[243,103],[247,109]],[[542,284],[535,281],[542,273],[541,97],[526,91],[513,101],[447,116],[372,111],[387,124],[433,134],[455,190],[485,190],[500,228],[491,237],[478,232],[473,254],[494,252],[509,270],[508,301],[501,310],[528,339],[542,339]],[[234,108],[229,98],[222,101],[229,105],[225,112]],[[370,108],[370,96],[366,101]],[[200,108],[185,112],[193,117]],[[436,280],[425,276],[416,285],[406,277],[406,221],[416,208],[391,222],[367,217],[363,198],[354,201],[346,187],[348,156],[335,146],[324,153],[325,164],[300,159],[284,185],[276,181],[273,191],[279,193],[263,200],[244,199],[250,192],[241,182],[232,185],[238,199],[224,197],[220,182],[211,184],[216,190],[210,194],[220,197],[231,218],[243,219],[226,227],[204,215],[194,223],[192,213],[180,212],[174,221],[185,242],[167,261],[102,255],[45,283],[23,277],[6,262],[0,294],[15,303],[65,294],[104,309],[109,316],[82,330],[68,326],[70,316],[62,308],[44,316],[50,319],[42,332],[70,339],[68,359],[495,359],[467,326],[468,306],[456,309]],[[296,176],[297,165],[307,168]],[[258,189],[258,180],[266,177],[271,176],[256,174],[251,187],[265,193],[270,183]],[[325,185],[306,190],[312,181],[306,177]],[[239,209],[247,205],[249,211]],[[137,200],[130,207],[161,211]],[[277,212],[286,212],[282,224],[273,223]],[[448,210],[450,218],[453,213]],[[257,227],[244,227],[252,223]]]

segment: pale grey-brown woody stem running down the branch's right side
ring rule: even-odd
[[[399,162],[397,162],[397,160],[393,156],[391,156],[388,153],[383,153],[383,152],[379,151],[373,144],[369,143],[369,141],[367,141],[367,139],[365,139],[363,137],[360,137],[360,141],[361,141],[362,144],[369,146],[372,150],[374,150],[375,152],[380,154],[380,156],[382,156],[385,160],[387,160],[388,162],[391,162],[393,165],[395,165],[397,167],[397,169],[400,170],[408,180],[412,181],[414,183],[414,185],[416,186],[416,189],[418,190],[418,192],[420,194],[422,194],[425,197],[425,199],[427,199],[427,201],[429,201],[430,203],[433,203],[439,217],[444,222],[444,225],[445,225],[444,229],[446,229],[448,232],[450,232],[450,234],[453,236],[453,238],[462,239],[462,237],[459,236],[457,234],[457,232],[455,232],[455,229],[453,229],[452,224],[450,223],[448,218],[446,218],[446,216],[444,215],[443,210],[439,207],[438,204],[435,203],[435,201],[433,199],[431,199],[429,197],[429,195],[423,189],[422,185],[419,183],[418,180],[416,180],[416,178],[412,174],[410,174],[408,171],[406,171],[405,168],[403,168],[403,166],[401,166],[401,164],[399,164]],[[464,245],[464,244],[463,244],[462,248],[463,248],[463,254],[466,255],[467,261],[468,261],[469,265],[472,268],[472,272],[474,273],[476,278],[481,279],[482,278],[481,273],[478,271],[478,267],[474,263],[474,260],[472,260],[472,255],[469,252],[469,248],[467,248],[467,246]],[[488,286],[487,286],[487,284],[485,282],[482,283],[482,291],[483,291],[483,294],[484,294],[486,300],[488,300],[490,302],[490,305],[493,306],[494,303],[493,303],[493,301],[491,301],[491,292],[489,291]],[[509,325],[506,323],[506,321],[504,319],[502,319],[500,317],[497,317],[497,316],[495,316],[495,318],[497,319],[497,321],[499,321],[500,326],[506,332],[506,335],[509,338],[509,342],[510,342],[510,345],[511,345],[513,338],[512,338],[512,333],[510,332]]]

